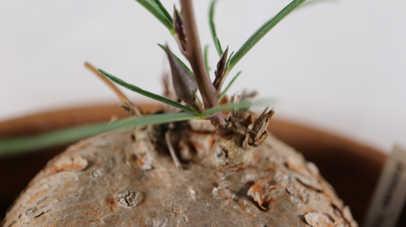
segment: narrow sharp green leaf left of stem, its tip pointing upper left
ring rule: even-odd
[[[118,85],[121,85],[129,90],[132,90],[133,92],[137,92],[137,93],[142,94],[143,96],[147,96],[151,99],[155,99],[162,103],[166,103],[166,104],[174,106],[176,108],[180,108],[181,110],[185,110],[186,112],[192,112],[192,113],[196,114],[196,111],[192,110],[192,108],[183,106],[182,104],[172,101],[171,99],[166,99],[164,96],[160,96],[159,94],[154,94],[152,92],[142,90],[141,88],[137,87],[136,85],[127,83],[127,82],[121,80],[120,78],[117,78],[116,76],[113,76],[113,75],[109,74],[108,72],[105,72],[103,69],[97,69],[97,71],[100,72],[100,74],[102,74],[103,76],[106,76],[107,78],[109,78],[114,83],[117,83]]]

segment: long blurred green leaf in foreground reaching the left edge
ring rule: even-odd
[[[167,114],[148,115],[143,117],[132,117],[122,119],[114,123],[103,122],[87,126],[77,126],[73,128],[52,131],[30,137],[15,137],[0,140],[0,156],[17,155],[50,146],[68,144],[77,140],[91,137],[118,128],[130,128],[137,126],[147,126],[150,124],[165,124],[175,121],[186,121],[190,119],[201,119],[198,115],[190,112],[174,112]]]

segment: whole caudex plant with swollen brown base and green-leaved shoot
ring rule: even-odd
[[[66,137],[67,131],[45,136],[49,145],[56,137],[67,142],[125,128],[83,140],[51,160],[10,208],[4,224],[357,226],[318,168],[269,134],[273,110],[255,119],[248,110],[253,94],[225,96],[224,80],[235,64],[303,1],[292,1],[230,56],[212,24],[219,53],[213,83],[192,2],[182,0],[182,12],[175,9],[172,18],[159,1],[139,1],[171,31],[192,69],[161,46],[173,81],[173,90],[166,86],[165,97],[101,69],[98,73],[172,107],[159,110],[163,114],[145,115],[117,92],[134,118],[74,128],[68,131],[73,139]],[[9,141],[9,147],[18,141]],[[26,149],[35,148],[36,142]]]

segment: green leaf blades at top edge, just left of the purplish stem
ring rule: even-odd
[[[159,0],[136,0],[144,8],[150,11],[159,21],[169,29],[171,34],[175,33],[173,30],[173,20],[169,12],[162,6],[162,3]]]

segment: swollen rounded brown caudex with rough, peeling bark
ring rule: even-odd
[[[4,226],[356,226],[318,168],[269,137],[222,167],[225,140],[193,126],[178,155],[155,149],[150,128],[115,131],[51,160]],[[203,131],[203,132],[202,132]]]

